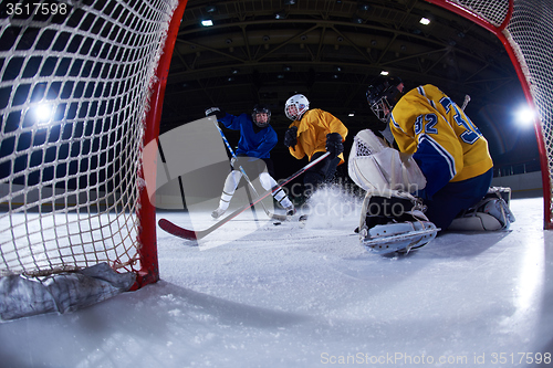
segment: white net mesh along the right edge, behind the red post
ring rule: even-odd
[[[446,1],[442,1],[446,2]],[[504,24],[509,1],[451,0],[495,27]],[[545,225],[553,227],[553,1],[514,0],[503,34],[514,50],[541,120],[542,160],[546,161],[549,185],[544,188]],[[547,218],[549,217],[549,218]]]

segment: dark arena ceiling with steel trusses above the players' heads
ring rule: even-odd
[[[420,24],[422,17],[431,23]],[[213,25],[202,27],[205,19]],[[238,115],[264,103],[281,137],[291,123],[284,103],[303,93],[354,134],[375,123],[365,91],[382,71],[408,88],[432,83],[458,104],[469,94],[472,111],[513,91],[522,96],[493,34],[422,0],[189,0],[160,129],[201,118],[210,106]]]

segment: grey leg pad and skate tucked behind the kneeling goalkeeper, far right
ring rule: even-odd
[[[508,230],[515,221],[509,208],[511,188],[491,187],[484,198],[453,219],[448,230]]]

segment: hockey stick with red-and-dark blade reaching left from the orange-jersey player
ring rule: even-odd
[[[223,224],[226,224],[227,222],[229,222],[230,220],[232,220],[233,218],[236,218],[237,215],[239,215],[243,211],[248,210],[250,207],[257,204],[258,202],[260,202],[261,200],[263,200],[268,196],[271,196],[276,190],[282,189],[282,186],[284,186],[284,185],[289,183],[290,181],[292,181],[293,179],[298,178],[300,175],[302,175],[303,172],[305,172],[307,169],[310,169],[311,167],[313,167],[316,164],[321,162],[328,155],[330,155],[330,153],[325,153],[324,155],[322,155],[317,159],[309,162],[303,168],[301,168],[300,170],[295,171],[290,177],[288,177],[286,179],[284,179],[284,181],[282,181],[282,183],[276,185],[272,189],[269,189],[269,190],[264,191],[260,197],[258,197],[251,203],[242,206],[241,208],[237,209],[234,212],[230,213],[225,219],[222,219],[221,221],[219,221],[219,222],[215,223],[213,225],[207,228],[206,230],[195,231],[195,230],[184,229],[184,228],[180,228],[179,225],[177,225],[177,224],[175,224],[175,223],[173,223],[173,222],[170,222],[169,220],[166,220],[166,219],[159,219],[159,221],[158,221],[159,228],[161,228],[163,230],[167,231],[168,233],[170,233],[170,234],[173,234],[175,236],[179,236],[179,238],[182,238],[182,239],[187,239],[187,240],[202,239],[204,236],[206,236],[209,233],[213,232],[215,230],[219,229],[220,227],[222,227]]]

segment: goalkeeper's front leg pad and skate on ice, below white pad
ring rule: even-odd
[[[386,190],[367,192],[363,202],[359,240],[373,253],[409,251],[428,244],[440,229],[428,221],[424,206],[409,193]]]

